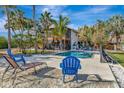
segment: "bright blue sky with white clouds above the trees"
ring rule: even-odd
[[[24,11],[24,16],[32,18],[32,6],[18,5],[17,8]],[[56,20],[59,15],[68,16],[70,18],[68,27],[77,30],[80,26],[95,24],[98,19],[107,20],[113,15],[124,15],[124,5],[37,5],[37,20],[44,11],[51,12]],[[7,37],[7,31],[4,29],[5,23],[6,16],[0,10],[0,36]]]

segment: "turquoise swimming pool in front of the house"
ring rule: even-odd
[[[56,55],[58,55],[58,56],[75,56],[78,58],[91,58],[93,56],[93,53],[84,52],[84,51],[68,51],[68,52],[57,53]]]

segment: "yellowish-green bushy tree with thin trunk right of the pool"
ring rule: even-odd
[[[106,23],[104,21],[98,20],[93,26],[84,26],[79,28],[79,40],[90,47],[99,48],[100,50],[100,60],[102,62],[102,48],[108,40],[108,35],[106,33]],[[88,47],[87,46],[87,47]]]

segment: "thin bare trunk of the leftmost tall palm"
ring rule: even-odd
[[[8,21],[8,49],[11,49],[11,30],[10,30],[10,18],[9,18],[9,10],[7,6],[5,6],[7,21]]]

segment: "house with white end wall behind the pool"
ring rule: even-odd
[[[49,31],[47,49],[72,49],[74,42],[78,41],[77,31],[67,27],[67,32],[62,38],[60,38],[52,35],[53,28],[54,26],[52,26],[51,30]]]

